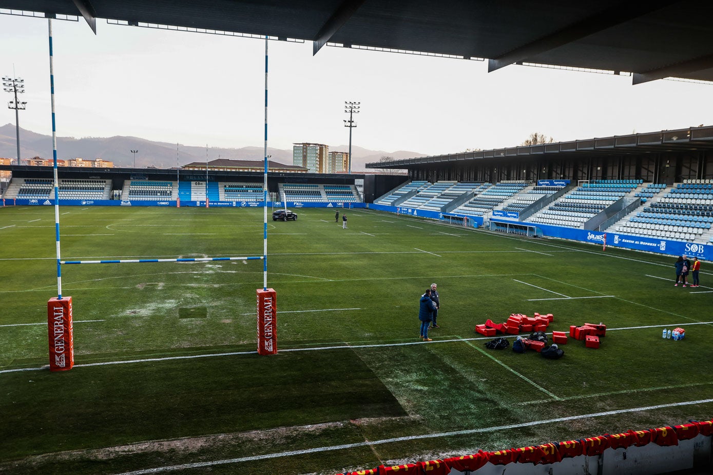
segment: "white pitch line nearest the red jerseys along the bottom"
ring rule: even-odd
[[[483,434],[485,432],[497,432],[508,429],[520,429],[522,427],[533,427],[543,424],[555,424],[558,422],[569,422],[583,419],[590,419],[593,417],[606,417],[613,416],[617,414],[626,414],[628,412],[640,412],[640,411],[652,411],[656,409],[665,409],[666,407],[680,407],[680,406],[690,406],[694,404],[706,404],[708,402],[713,402],[713,399],[704,399],[697,401],[683,401],[683,402],[671,402],[669,404],[657,404],[656,406],[645,406],[645,407],[631,407],[629,409],[617,409],[615,411],[606,412],[593,412],[590,414],[580,414],[577,416],[568,417],[557,417],[555,419],[545,419],[536,420],[531,422],[519,422],[518,424],[508,424],[498,427],[481,427],[478,429],[463,429],[453,432],[439,432],[436,434],[421,434],[421,435],[411,435],[406,437],[392,437],[391,439],[379,439],[374,441],[364,441],[364,442],[354,442],[353,444],[342,444],[342,445],[332,445],[327,447],[315,447],[314,449],[302,449],[302,450],[290,450],[284,452],[278,452],[274,454],[262,454],[247,457],[238,457],[236,459],[222,459],[214,461],[202,461],[195,462],[193,464],[180,464],[180,465],[170,465],[170,466],[160,466],[153,469],[143,469],[135,471],[127,471],[120,475],[145,475],[145,474],[158,474],[163,471],[173,471],[173,470],[185,470],[185,469],[196,469],[206,466],[216,466],[225,464],[237,464],[245,461],[253,460],[264,460],[264,459],[277,459],[286,456],[295,456],[303,454],[315,454],[317,452],[332,451],[332,450],[343,450],[343,449],[353,449],[354,447],[371,447],[374,445],[383,444],[393,444],[394,442],[409,442],[411,440],[421,440],[421,439],[439,439],[441,437],[453,437],[458,435],[468,435],[468,434]]]

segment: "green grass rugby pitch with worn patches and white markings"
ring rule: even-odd
[[[0,471],[239,459],[211,473],[329,474],[713,417],[701,403],[529,424],[711,397],[707,263],[702,287],[676,288],[670,256],[369,210],[347,211],[345,230],[333,210],[297,211],[298,221],[268,222],[272,357],[252,353],[262,261],[63,266],[78,366],[0,373]],[[61,213],[67,260],[262,255],[262,209]],[[0,371],[48,362],[46,326],[20,324],[46,321],[56,296],[53,221],[50,207],[0,209],[0,325],[10,325],[0,326]],[[443,328],[417,343],[431,282]],[[465,340],[488,318],[533,312],[555,315],[548,330],[601,321],[609,331],[598,350],[570,339],[556,361]],[[674,325],[685,340],[661,338]],[[83,366],[127,360],[148,361]],[[508,424],[521,427],[489,429]],[[433,437],[373,443],[424,434]],[[261,459],[286,451],[307,452]]]

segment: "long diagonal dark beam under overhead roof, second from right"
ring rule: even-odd
[[[513,51],[508,51],[508,53],[498,56],[497,58],[488,59],[488,73],[492,73],[497,69],[519,61],[525,61],[545,51],[564,46],[573,41],[585,38],[585,36],[590,36],[599,31],[611,28],[612,26],[617,26],[674,3],[676,3],[675,0],[621,2],[598,14],[580,20],[570,26],[566,26],[559,31],[543,36],[532,43],[515,48]]]

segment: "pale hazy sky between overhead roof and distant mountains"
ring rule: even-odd
[[[52,22],[57,133],[262,147],[265,41],[83,19]],[[51,134],[46,19],[0,14],[0,75],[24,78],[20,126]],[[268,146],[349,142],[426,155],[710,125],[713,85],[270,41]],[[0,125],[15,123],[2,93]]]

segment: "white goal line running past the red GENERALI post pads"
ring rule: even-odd
[[[282,312],[284,313],[284,312]],[[697,322],[697,323],[670,323],[665,326],[672,325],[710,325],[713,322]],[[607,331],[616,330],[639,330],[644,328],[661,328],[664,324],[660,325],[647,325],[642,327],[627,327],[627,328],[607,328]],[[515,338],[515,335],[503,335],[503,338]],[[436,345],[437,343],[453,343],[453,342],[467,342],[467,341],[477,341],[477,340],[492,340],[493,337],[474,337],[474,338],[450,338],[448,340],[434,340],[430,342],[426,341],[409,341],[406,343],[373,343],[370,345],[350,345],[349,343],[343,343],[342,345],[330,345],[330,346],[319,346],[310,348],[287,348],[285,350],[279,350],[279,353],[292,353],[294,351],[319,351],[319,350],[344,350],[353,348],[387,348],[395,346],[411,346],[411,345]],[[123,365],[125,363],[134,362],[153,362],[153,361],[169,361],[169,360],[191,360],[194,358],[205,358],[205,357],[221,357],[221,356],[232,356],[232,355],[254,355],[257,351],[240,351],[235,353],[210,353],[207,355],[192,355],[192,356],[166,356],[160,358],[149,358],[144,360],[124,360],[124,361],[108,361],[108,362],[97,362],[97,363],[86,363],[74,365],[74,367],[86,367],[86,366],[102,366],[102,365]],[[46,369],[43,367],[28,367],[19,368],[16,370],[0,370],[0,374],[5,372],[19,372],[19,371],[38,371]]]

